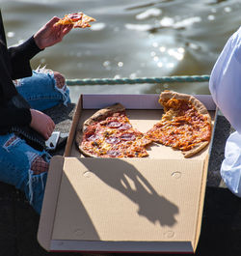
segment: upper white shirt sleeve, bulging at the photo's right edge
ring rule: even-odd
[[[226,43],[210,75],[213,100],[241,134],[241,27]]]

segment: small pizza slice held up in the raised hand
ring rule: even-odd
[[[74,28],[86,28],[91,27],[90,22],[93,21],[95,21],[94,17],[79,12],[75,14],[66,14],[63,18],[56,22],[55,25],[58,26],[71,24]]]

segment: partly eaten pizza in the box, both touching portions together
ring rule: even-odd
[[[157,144],[172,147],[184,157],[198,154],[211,139],[211,117],[193,96],[165,91],[159,102],[164,113],[147,132],[133,128],[120,103],[97,110],[76,131],[84,156],[144,157]]]

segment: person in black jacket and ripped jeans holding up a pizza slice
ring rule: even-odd
[[[24,191],[37,213],[51,158],[39,141],[55,128],[41,111],[70,100],[65,77],[46,69],[32,71],[30,60],[72,29],[54,26],[59,19],[53,17],[28,41],[8,48],[0,12],[0,181]]]

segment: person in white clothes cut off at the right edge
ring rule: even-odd
[[[221,176],[228,188],[241,196],[241,27],[228,39],[211,72],[213,100],[235,129],[228,137]]]

